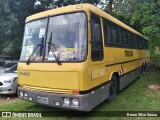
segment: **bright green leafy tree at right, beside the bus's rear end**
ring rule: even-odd
[[[151,58],[157,58],[154,53],[160,46],[160,0],[147,0],[137,4],[132,13],[130,23],[135,25],[150,40]],[[159,56],[159,55],[158,55]],[[160,56],[158,57],[160,60]]]

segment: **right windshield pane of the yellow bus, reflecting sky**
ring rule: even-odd
[[[51,17],[49,20],[48,36],[52,34],[52,49],[46,53],[45,60],[81,61],[86,57],[87,29],[84,13],[73,13]],[[48,39],[49,41],[49,39]],[[48,47],[47,47],[48,48]],[[46,50],[48,51],[48,50]]]

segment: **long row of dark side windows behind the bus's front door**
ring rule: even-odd
[[[148,45],[146,45],[146,47],[143,46],[143,42],[147,41],[144,37],[141,37],[140,35],[137,35],[127,29],[125,29],[124,27],[117,25],[116,23],[106,19],[106,18],[102,18],[102,22],[103,22],[103,33],[104,33],[104,44],[105,47],[118,47],[118,48],[127,48],[127,49],[142,49],[142,50],[146,50],[148,49]],[[106,26],[110,27],[110,34],[111,34],[111,41],[108,42],[108,36],[106,34],[108,34],[108,32],[106,31],[107,29],[105,28]],[[112,26],[116,26],[117,28],[117,40],[116,43],[113,42],[113,38],[112,38]],[[126,40],[123,40],[123,32],[125,32],[124,36],[126,36]],[[129,34],[131,36],[131,39],[129,38]],[[144,39],[144,41],[141,41],[142,38]],[[125,42],[124,42],[125,41]],[[142,44],[142,46],[140,46],[140,44]],[[147,44],[147,43],[146,43]]]

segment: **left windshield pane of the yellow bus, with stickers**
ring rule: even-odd
[[[20,58],[21,61],[27,61],[36,46],[41,44],[42,38],[45,37],[46,26],[47,18],[26,24]],[[32,59],[34,59],[35,56],[40,56],[40,49],[39,47],[39,50],[33,54]]]

